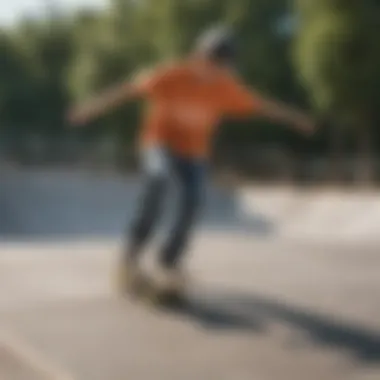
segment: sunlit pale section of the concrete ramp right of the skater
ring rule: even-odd
[[[380,195],[370,191],[242,189],[242,207],[272,221],[277,235],[302,239],[377,241]]]

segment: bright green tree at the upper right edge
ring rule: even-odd
[[[361,168],[359,174],[368,179],[370,133],[379,106],[379,4],[298,0],[295,9],[299,15],[295,62],[301,79],[315,107],[329,115],[336,130],[355,128],[367,169]],[[342,139],[335,134],[335,145]]]

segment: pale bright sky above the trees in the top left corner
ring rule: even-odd
[[[44,13],[49,3],[58,4],[65,10],[80,7],[101,7],[107,0],[0,0],[0,25],[12,25],[17,19],[25,15],[33,17]]]

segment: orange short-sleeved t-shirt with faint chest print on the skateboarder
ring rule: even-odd
[[[246,116],[261,106],[234,76],[211,64],[161,68],[146,75],[137,88],[149,100],[142,145],[161,145],[187,157],[209,154],[223,117]]]

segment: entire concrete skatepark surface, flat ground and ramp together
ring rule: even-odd
[[[112,287],[137,185],[2,173],[0,380],[380,379],[377,193],[211,186],[165,313]]]

